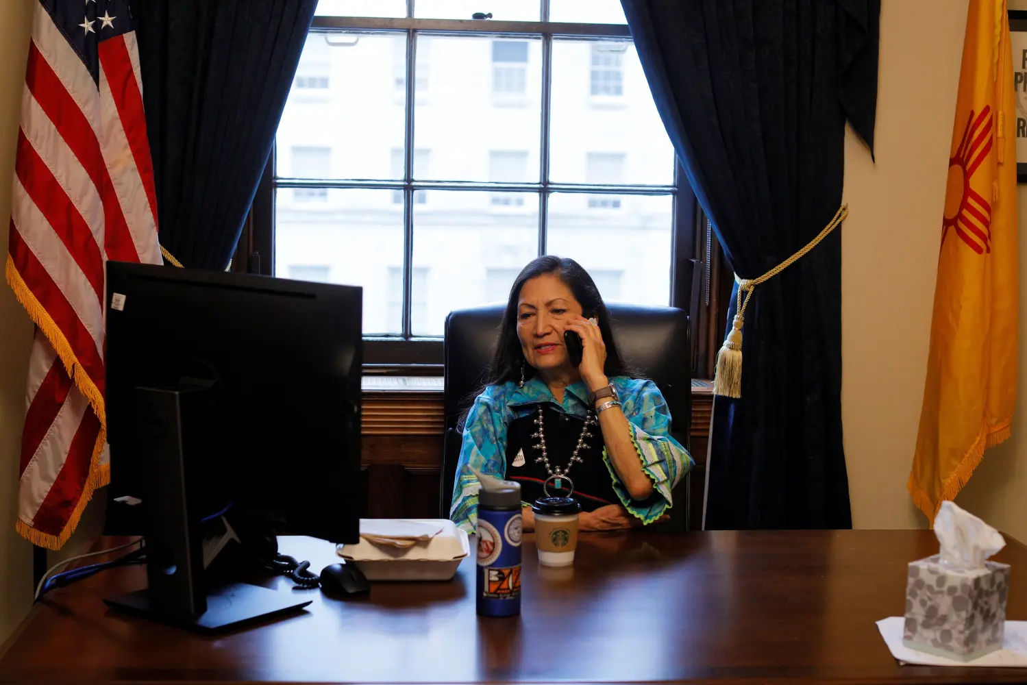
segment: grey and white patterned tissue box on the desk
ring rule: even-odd
[[[939,556],[910,562],[903,644],[969,661],[1002,647],[1010,566],[985,562],[976,571],[951,571]]]

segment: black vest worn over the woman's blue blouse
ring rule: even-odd
[[[538,439],[532,437],[536,432],[535,420],[538,418],[538,407],[531,414],[515,419],[506,426],[506,479],[521,484],[521,499],[529,504],[542,497],[542,484],[549,472],[545,464],[536,461],[542,456],[541,450],[535,448]],[[599,424],[593,425],[588,432],[592,437],[585,440],[578,456],[581,462],[575,463],[569,470],[567,464],[574,454],[584,419],[568,416],[546,405],[543,410],[543,427],[545,429],[545,451],[549,465],[567,470],[567,475],[574,483],[573,497],[581,505],[582,511],[593,511],[607,504],[619,504],[620,498],[613,490],[613,477],[603,461],[603,431]],[[524,464],[519,463],[518,454],[523,450]],[[554,482],[548,485],[550,495],[566,495],[568,484],[563,482],[558,490]]]

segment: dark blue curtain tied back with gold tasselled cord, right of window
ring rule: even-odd
[[[622,4],[668,134],[731,268],[743,278],[763,274],[841,204],[846,119],[873,147],[879,0]],[[843,228],[749,303],[741,397],[715,401],[708,529],[851,527]]]

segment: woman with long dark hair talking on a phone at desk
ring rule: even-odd
[[[518,275],[489,369],[467,412],[450,518],[473,532],[481,472],[517,481],[524,529],[530,502],[550,494],[581,505],[581,530],[647,525],[672,505],[692,458],[670,434],[671,414],[650,380],[632,378],[592,276],[544,256]]]

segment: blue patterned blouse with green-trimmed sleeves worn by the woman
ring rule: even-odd
[[[610,382],[620,395],[621,410],[631,425],[632,442],[635,443],[642,469],[652,479],[658,496],[645,502],[633,500],[620,483],[605,449],[603,462],[610,471],[613,490],[624,508],[643,523],[650,524],[671,507],[671,491],[694,462],[685,448],[671,436],[671,412],[655,383],[626,376],[616,376]],[[538,377],[526,382],[524,387],[514,382],[487,387],[467,413],[450,519],[468,533],[474,531],[480,486],[468,466],[474,466],[489,475],[505,478],[506,427],[510,421],[531,414],[540,404],[583,419],[589,409],[587,398],[588,389],[582,381],[567,387],[563,403],[557,402],[548,386]]]

